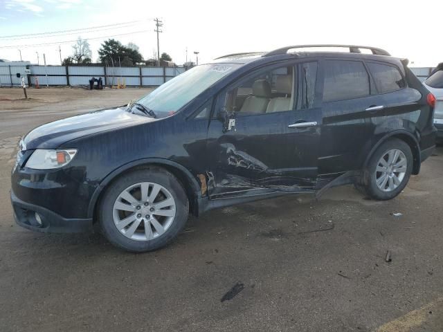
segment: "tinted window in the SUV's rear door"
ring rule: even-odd
[[[359,61],[327,60],[323,102],[365,97],[370,94],[369,75]]]

